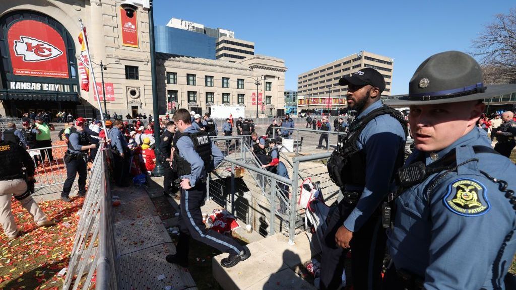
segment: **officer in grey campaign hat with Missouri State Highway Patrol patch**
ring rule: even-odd
[[[516,166],[475,123],[484,99],[516,85],[482,82],[475,59],[443,52],[417,68],[408,95],[386,102],[410,106],[415,144],[389,198],[396,211],[386,289],[505,288],[516,252]]]

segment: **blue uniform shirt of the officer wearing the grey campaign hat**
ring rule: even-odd
[[[424,287],[433,289],[502,289],[503,277],[516,252],[516,214],[493,178],[506,181],[516,190],[516,166],[502,155],[475,154],[472,146],[491,146],[481,128],[475,127],[437,156],[456,149],[457,164],[471,158],[440,179],[430,175],[423,183],[407,189],[396,200],[394,230],[388,246],[396,268],[424,277]],[[428,152],[415,150],[411,163]],[[507,239],[504,242],[504,239]]]

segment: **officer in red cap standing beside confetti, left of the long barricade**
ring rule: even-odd
[[[75,130],[70,133],[68,150],[65,154],[67,179],[61,191],[61,200],[71,202],[70,190],[72,189],[75,175],[79,174],[78,186],[79,197],[86,195],[86,175],[88,150],[95,149],[96,144],[90,141],[90,135],[85,131],[84,118],[77,118]],[[86,151],[86,152],[84,152]]]

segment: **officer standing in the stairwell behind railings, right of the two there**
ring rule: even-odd
[[[276,140],[275,138],[271,138],[268,140],[267,143],[269,145],[268,152],[266,155],[267,161],[262,165],[262,168],[265,168],[272,173],[283,176],[286,179],[290,179],[285,164],[283,164],[283,162],[280,161],[280,151],[277,147],[278,140]],[[286,214],[286,210],[289,204],[289,188],[288,185],[284,183],[278,183],[278,188],[280,189],[280,194],[283,196],[283,201],[280,201],[280,214]]]

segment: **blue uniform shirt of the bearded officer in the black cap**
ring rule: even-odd
[[[370,111],[380,108],[377,101],[367,107],[357,118],[363,118]],[[362,191],[362,196],[348,218],[346,229],[354,232],[367,221],[378,208],[394,184],[391,183],[396,158],[400,148],[405,147],[405,131],[401,124],[389,115],[380,115],[365,126],[357,140],[359,150],[367,156],[365,187],[346,184],[346,190]],[[391,187],[391,188],[390,188]]]

